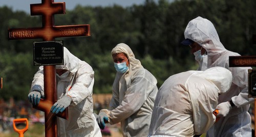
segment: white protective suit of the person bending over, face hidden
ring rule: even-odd
[[[231,72],[222,67],[190,70],[167,78],[160,87],[148,136],[193,136],[214,125],[218,94],[228,91]]]

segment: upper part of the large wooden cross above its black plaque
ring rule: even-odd
[[[8,29],[9,40],[43,39],[52,41],[54,38],[90,36],[90,25],[54,26],[53,14],[65,14],[65,3],[52,3],[53,0],[42,4],[31,4],[31,15],[42,15],[41,28]]]

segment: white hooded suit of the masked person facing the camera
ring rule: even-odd
[[[120,43],[112,49],[111,55],[120,52],[127,55],[129,69],[124,74],[116,73],[111,111],[101,111],[108,115],[110,124],[121,122],[123,136],[147,136],[158,92],[157,79],[135,59],[129,46]]]

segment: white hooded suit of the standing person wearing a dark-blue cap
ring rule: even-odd
[[[207,19],[197,17],[186,26],[184,36],[206,49],[207,68],[220,66],[232,73],[229,92],[219,96],[219,103],[232,99],[237,108],[232,108],[226,117],[221,118],[208,132],[208,136],[251,136],[249,105],[254,100],[248,98],[248,69],[250,67],[229,67],[229,56],[240,56],[229,51],[220,42],[214,25]],[[239,46],[239,45],[238,45]]]

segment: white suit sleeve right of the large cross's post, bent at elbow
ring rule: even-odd
[[[84,61],[78,64],[77,74],[74,84],[65,95],[72,97],[71,105],[76,105],[83,99],[92,95],[94,85],[94,71],[92,67]]]

